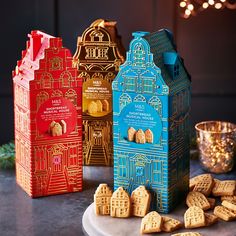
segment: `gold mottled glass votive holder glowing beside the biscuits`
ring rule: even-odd
[[[212,173],[226,173],[234,165],[236,125],[224,121],[204,121],[195,125],[199,159]]]

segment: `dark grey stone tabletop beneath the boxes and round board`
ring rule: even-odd
[[[191,176],[201,173],[198,161],[191,160]],[[236,179],[236,170],[214,177]],[[113,186],[111,167],[84,167],[82,192],[31,199],[16,184],[13,170],[0,170],[0,236],[84,235],[82,216],[101,182]]]

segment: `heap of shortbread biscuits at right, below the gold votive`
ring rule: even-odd
[[[209,226],[218,218],[224,221],[236,219],[235,180],[220,181],[210,174],[203,174],[190,179],[189,187],[192,191],[186,199],[189,208],[184,214],[185,228]],[[215,207],[214,197],[221,197],[221,206]],[[213,214],[204,212],[209,209],[214,209]]]

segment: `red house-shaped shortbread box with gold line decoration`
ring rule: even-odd
[[[82,81],[62,39],[32,31],[13,71],[17,183],[39,197],[82,190]]]

